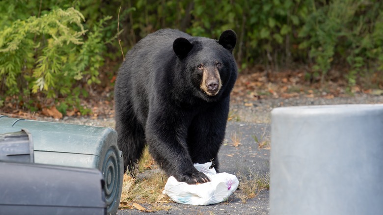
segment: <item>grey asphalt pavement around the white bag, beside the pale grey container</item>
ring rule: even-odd
[[[256,138],[254,138],[256,136]],[[270,150],[259,148],[258,142],[270,141],[270,125],[229,121],[226,128],[226,138],[219,151],[220,171],[234,174],[266,175],[269,173]],[[239,144],[238,144],[239,143]],[[241,188],[241,182],[239,189]],[[236,192],[240,192],[237,189]],[[236,193],[235,192],[235,193]],[[262,190],[257,196],[247,199],[244,203],[235,193],[227,202],[194,206],[170,202],[168,211],[156,211],[159,215],[268,215],[269,190]],[[142,206],[145,207],[143,204]],[[150,208],[150,207],[149,207]],[[117,215],[147,214],[135,209],[119,210]]]

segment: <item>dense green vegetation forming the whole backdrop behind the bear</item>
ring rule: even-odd
[[[79,96],[108,81],[103,67],[103,77],[116,74],[105,62],[122,61],[118,38],[125,53],[165,27],[213,38],[234,29],[241,69],[307,65],[324,82],[339,65],[349,86],[383,70],[381,0],[2,0],[0,108],[6,99],[31,110],[50,101],[86,113]]]

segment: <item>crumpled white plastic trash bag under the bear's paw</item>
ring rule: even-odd
[[[235,175],[225,172],[217,173],[214,168],[209,169],[211,162],[199,164],[194,167],[205,173],[210,182],[189,185],[178,182],[173,176],[167,180],[163,193],[177,203],[189,205],[211,205],[226,201],[238,187],[238,179]]]

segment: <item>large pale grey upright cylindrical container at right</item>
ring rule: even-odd
[[[275,108],[270,215],[383,213],[383,105]]]

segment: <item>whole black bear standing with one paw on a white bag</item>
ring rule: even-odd
[[[141,39],[122,63],[114,88],[118,146],[124,168],[145,146],[168,176],[208,182],[193,163],[214,162],[225,136],[237,79],[233,30],[219,40],[162,29]]]

